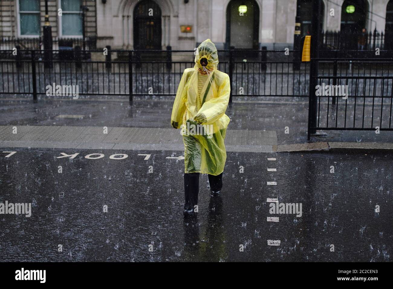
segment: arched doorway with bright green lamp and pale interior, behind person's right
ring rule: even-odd
[[[242,12],[242,15],[241,15]],[[226,8],[226,48],[258,49],[259,7],[255,0],[231,0]]]

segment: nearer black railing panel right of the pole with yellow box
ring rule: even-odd
[[[309,136],[315,130],[393,130],[392,59],[313,59],[318,75],[309,96]],[[313,109],[314,108],[314,109]]]

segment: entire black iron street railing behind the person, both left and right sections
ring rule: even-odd
[[[81,96],[120,95],[130,101],[133,96],[174,96],[184,69],[195,64],[194,51],[158,50],[152,55],[143,50],[108,50],[104,55],[101,50],[77,50],[66,58],[70,60],[53,61],[44,60],[42,50],[20,52],[0,62],[0,94],[31,94],[35,100],[39,95],[70,98],[74,88]],[[83,60],[87,53],[93,60]],[[309,137],[321,129],[392,130],[391,58],[301,63],[294,61],[298,52],[287,54],[285,50],[219,50],[218,69],[230,76],[230,100],[232,96],[308,96]],[[315,63],[318,72],[311,75]],[[64,94],[64,88],[70,93]]]

